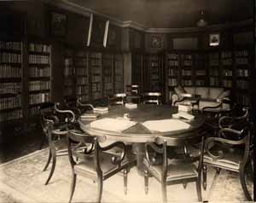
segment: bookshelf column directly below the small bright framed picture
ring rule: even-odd
[[[219,87],[220,85],[220,74],[219,74],[219,54],[218,51],[210,52],[208,54],[208,74],[209,74],[209,85],[212,87]]]

